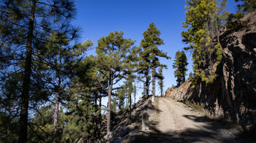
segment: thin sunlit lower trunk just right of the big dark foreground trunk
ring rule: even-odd
[[[56,135],[58,131],[58,113],[59,113],[59,92],[56,93],[56,103],[53,115],[53,143],[57,142]]]

